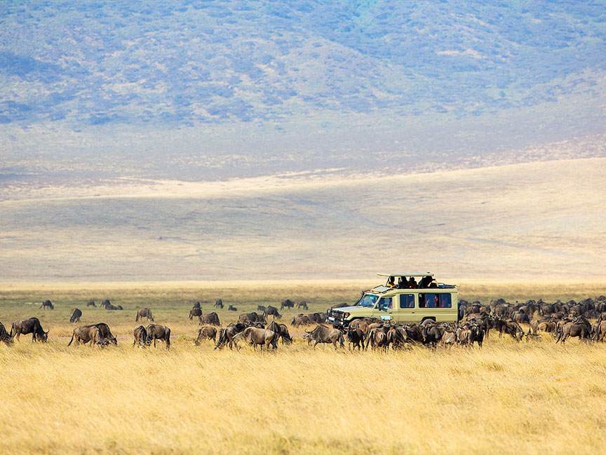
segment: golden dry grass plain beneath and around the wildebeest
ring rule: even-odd
[[[483,348],[259,352],[194,345],[194,301],[215,299],[222,325],[257,305],[305,299],[309,312],[352,302],[377,283],[4,283],[0,321],[36,316],[48,343],[0,345],[7,453],[33,454],[595,454],[606,442],[606,345],[550,335],[516,343],[491,333]],[[606,283],[462,283],[487,303],[579,300]],[[50,299],[54,310],[39,308]],[[87,308],[110,299],[123,311]],[[227,305],[238,308],[228,312]],[[69,323],[72,308],[83,311]],[[137,308],[172,330],[170,350],[133,346]],[[297,311],[283,312],[290,324]],[[76,325],[107,322],[118,346],[67,346]],[[147,325],[147,321],[143,322]],[[526,327],[527,328],[527,327]]]

